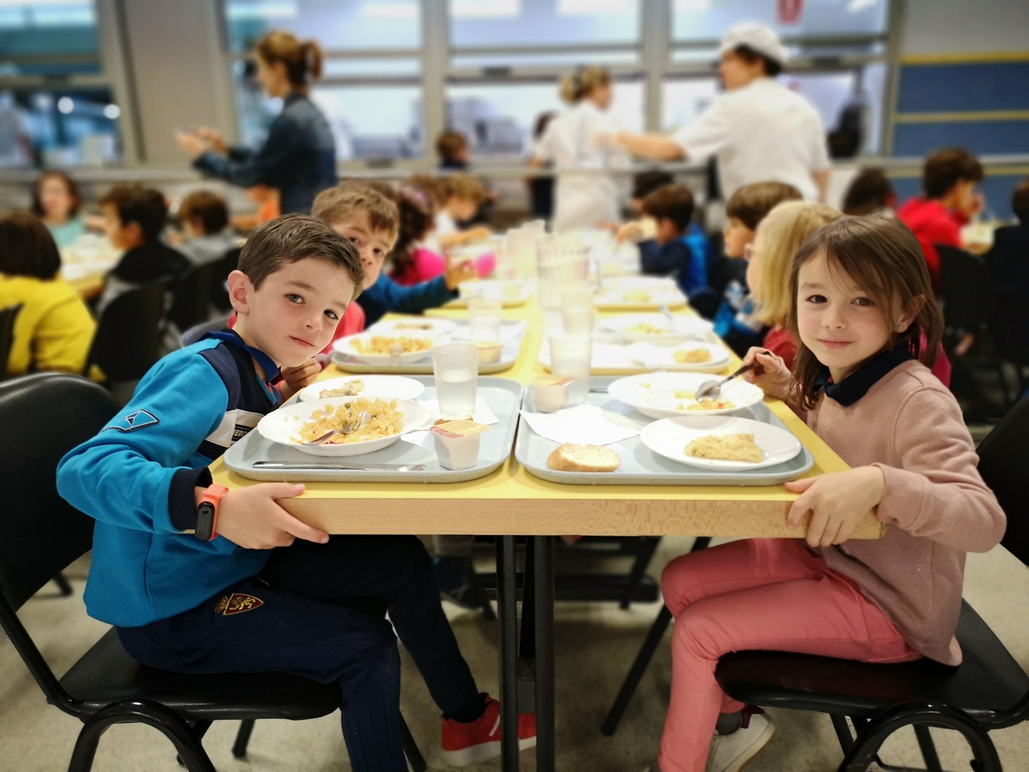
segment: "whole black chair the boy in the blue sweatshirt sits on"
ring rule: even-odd
[[[201,740],[215,721],[242,721],[233,748],[243,757],[256,718],[317,718],[339,708],[334,683],[288,673],[184,675],[144,667],[111,628],[60,679],[17,617],[17,609],[60,569],[92,547],[93,520],[57,492],[62,455],[99,431],[116,407],[77,376],[40,374],[0,385],[0,425],[19,443],[0,445],[0,627],[47,702],[83,723],[70,772],[93,766],[101,735],[114,724],[146,724],[175,745],[189,772],[214,772]],[[404,752],[425,762],[401,720]]]

